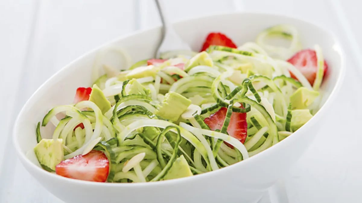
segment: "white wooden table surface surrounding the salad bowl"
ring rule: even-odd
[[[167,1],[172,20],[226,12],[287,14],[332,30],[346,52],[340,96],[320,134],[286,174],[291,203],[362,202],[362,17],[355,0]],[[149,0],[0,1],[0,202],[60,203],[22,167],[12,126],[29,96],[52,74],[119,35],[160,24]],[[237,25],[235,25],[237,26]],[[247,31],[247,30],[245,30]]]

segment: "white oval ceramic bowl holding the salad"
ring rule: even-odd
[[[134,61],[152,57],[161,36],[161,27],[156,27],[116,39],[81,56],[53,75],[31,96],[20,112],[13,131],[15,148],[22,164],[47,190],[65,202],[256,202],[268,187],[286,174],[317,136],[323,116],[330,111],[344,75],[341,47],[336,38],[321,27],[271,14],[224,14],[174,24],[181,38],[194,50],[199,50],[202,40],[210,31],[222,31],[240,45],[254,40],[266,27],[279,23],[294,25],[304,47],[313,48],[316,43],[322,47],[329,64],[329,74],[322,85],[324,104],[320,111],[275,146],[214,172],[151,183],[87,182],[64,178],[40,168],[32,153],[37,143],[37,122],[50,108],[71,103],[77,87],[91,85],[91,69],[100,48],[109,45],[123,48]]]

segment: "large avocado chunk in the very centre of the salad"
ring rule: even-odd
[[[161,103],[160,109],[156,111],[156,115],[175,122],[190,104],[190,99],[176,92],[168,92]]]

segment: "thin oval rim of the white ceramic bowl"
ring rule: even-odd
[[[340,90],[344,76],[345,76],[345,52],[341,46],[340,40],[338,39],[338,37],[329,29],[321,26],[321,25],[317,25],[315,23],[306,21],[304,19],[298,18],[298,17],[294,17],[294,16],[289,16],[289,15],[283,15],[283,14],[275,14],[275,13],[267,13],[267,12],[227,12],[227,13],[217,13],[217,14],[210,14],[210,15],[204,15],[204,16],[198,16],[198,17],[191,17],[191,18],[185,18],[183,20],[180,21],[176,21],[173,22],[173,25],[177,25],[177,24],[181,24],[181,23],[186,23],[188,21],[195,21],[195,20],[200,20],[203,18],[210,18],[210,17],[222,17],[222,16],[248,16],[248,15],[257,15],[257,16],[264,16],[264,17],[279,17],[279,18],[288,18],[290,20],[293,21],[298,21],[304,24],[308,24],[312,27],[317,27],[318,29],[324,31],[325,33],[328,33],[329,36],[331,36],[331,38],[334,41],[334,44],[337,45],[338,50],[336,49],[335,51],[338,52],[338,54],[341,57],[341,62],[339,65],[341,65],[340,67],[340,74],[337,77],[337,81],[336,84],[334,86],[334,88],[331,91],[331,94],[328,96],[327,100],[325,100],[325,103],[320,107],[319,111],[310,119],[310,121],[308,121],[306,124],[303,125],[303,127],[305,126],[305,128],[300,128],[298,131],[294,132],[293,134],[297,133],[297,134],[302,134],[306,129],[308,129],[308,126],[313,125],[322,115],[323,112],[325,112],[331,103],[333,102],[333,100],[336,98],[337,92]],[[18,158],[20,159],[21,163],[24,165],[24,167],[26,168],[26,170],[31,174],[31,176],[34,176],[33,173],[38,173],[38,174],[42,174],[43,176],[45,176],[45,178],[50,178],[50,179],[56,179],[57,181],[65,181],[71,184],[78,184],[78,185],[87,185],[87,186],[99,186],[99,187],[127,187],[127,188],[133,188],[133,187],[154,187],[154,186],[170,186],[170,185],[174,185],[177,183],[187,183],[187,182],[193,182],[193,181],[198,181],[198,180],[202,180],[203,178],[207,178],[207,177],[211,177],[214,176],[218,173],[227,173],[228,170],[231,170],[232,168],[235,167],[240,167],[241,165],[245,165],[248,164],[249,162],[255,162],[259,159],[263,159],[264,156],[266,156],[268,153],[270,153],[271,151],[275,151],[278,150],[277,147],[273,146],[273,147],[269,147],[266,150],[258,153],[257,155],[254,155],[252,157],[249,157],[246,160],[237,162],[235,164],[232,164],[228,167],[223,167],[220,168],[218,170],[214,170],[211,172],[207,172],[207,173],[202,173],[202,174],[198,174],[196,176],[191,176],[191,177],[184,177],[184,178],[177,178],[177,179],[172,179],[172,180],[166,180],[166,181],[156,181],[156,182],[139,182],[139,183],[132,183],[132,184],[120,184],[120,183],[109,183],[109,182],[92,182],[92,181],[83,181],[83,180],[76,180],[76,179],[72,179],[72,178],[66,178],[63,176],[59,176],[57,174],[54,173],[50,173],[47,172],[46,170],[38,167],[37,165],[35,165],[34,163],[32,163],[27,157],[26,157],[26,153],[23,153],[21,148],[20,148],[20,144],[18,142],[18,138],[17,138],[17,134],[19,133],[18,129],[20,128],[20,124],[19,124],[19,120],[22,114],[24,114],[24,111],[26,109],[26,107],[28,105],[30,105],[30,101],[32,101],[34,99],[34,95],[38,94],[39,91],[42,90],[42,88],[52,79],[58,77],[58,75],[62,72],[65,72],[66,69],[70,68],[73,64],[75,64],[76,62],[82,60],[83,58],[87,57],[88,55],[92,54],[93,52],[96,52],[106,46],[109,46],[110,44],[113,44],[115,42],[118,42],[119,40],[128,38],[130,36],[133,35],[137,35],[137,34],[141,34],[144,32],[150,32],[152,30],[157,30],[160,29],[162,27],[162,25],[158,25],[158,26],[153,26],[147,29],[141,29],[141,30],[136,30],[121,36],[118,36],[114,39],[109,40],[106,43],[101,44],[100,46],[97,46],[94,49],[91,49],[90,51],[84,53],[83,55],[77,57],[75,60],[71,61],[70,63],[68,63],[67,65],[63,66],[60,70],[58,70],[56,73],[54,73],[50,78],[48,78],[41,86],[39,86],[37,88],[37,90],[30,96],[30,98],[27,100],[27,102],[24,104],[24,106],[22,107],[21,111],[18,113],[18,116],[14,122],[14,126],[13,126],[13,145],[16,149],[16,154],[18,155]],[[302,136],[302,135],[298,135],[298,136]],[[276,146],[283,146],[283,145],[287,145],[290,142],[293,142],[294,136],[289,136],[285,139],[283,139],[283,142],[279,142],[276,144]],[[279,147],[280,148],[280,147]],[[30,168],[28,168],[30,167]],[[30,170],[32,172],[30,172]],[[41,182],[41,181],[39,181]]]

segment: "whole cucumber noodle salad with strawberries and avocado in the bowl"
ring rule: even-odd
[[[328,65],[318,45],[302,49],[293,26],[277,25],[241,46],[210,33],[198,53],[170,51],[125,68],[96,70],[106,74],[38,123],[43,169],[126,183],[227,167],[312,118]],[[52,135],[41,133],[47,125]]]

